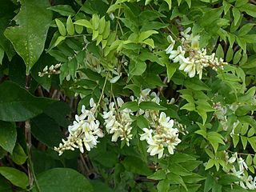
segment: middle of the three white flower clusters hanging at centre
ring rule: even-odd
[[[125,141],[126,145],[130,146],[130,139],[133,137],[130,134],[132,130],[131,123],[133,122],[130,115],[133,114],[129,109],[119,110],[124,103],[122,98],[117,98],[117,102],[117,105],[114,102],[110,102],[109,111],[103,111],[106,131],[108,134],[113,134],[112,142],[117,142],[118,138],[121,138],[121,141]]]

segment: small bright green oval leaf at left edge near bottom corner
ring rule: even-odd
[[[0,174],[8,179],[14,186],[26,189],[26,186],[29,185],[28,177],[20,170],[16,170],[12,167],[0,166]]]

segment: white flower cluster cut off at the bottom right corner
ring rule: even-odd
[[[227,155],[227,154],[226,154]],[[248,169],[246,162],[243,158],[239,157],[238,154],[233,154],[227,161],[232,165],[230,171],[227,171],[228,174],[232,174],[240,179],[239,182],[236,182],[239,186],[247,190],[256,190],[256,177],[248,175],[245,170]],[[234,163],[236,164],[234,165]]]

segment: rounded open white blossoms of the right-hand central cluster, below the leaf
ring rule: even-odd
[[[158,121],[152,121],[150,129],[143,128],[144,134],[140,134],[140,140],[146,140],[148,144],[147,152],[154,156],[158,154],[158,158],[162,158],[165,147],[167,147],[169,154],[174,154],[175,146],[181,142],[178,138],[178,129],[173,128],[174,120],[166,117],[162,112]]]

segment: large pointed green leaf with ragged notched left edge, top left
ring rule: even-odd
[[[46,7],[50,6],[48,0],[26,0],[20,3],[20,11],[14,17],[16,26],[8,27],[4,34],[23,58],[26,74],[29,74],[44,50],[52,13],[46,10]]]

